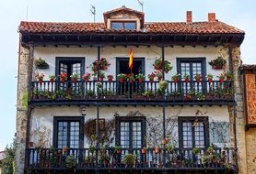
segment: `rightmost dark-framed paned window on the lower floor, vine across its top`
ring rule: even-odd
[[[179,117],[181,148],[208,147],[209,124],[207,117]]]

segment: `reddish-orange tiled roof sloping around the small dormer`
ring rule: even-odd
[[[52,22],[21,22],[21,33],[145,33],[145,34],[244,34],[239,28],[223,22],[150,22],[145,23],[141,30],[113,30],[106,28],[104,23],[52,23]]]

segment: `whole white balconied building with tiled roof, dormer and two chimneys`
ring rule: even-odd
[[[122,6],[103,16],[20,23],[17,173],[246,173],[244,32],[211,13],[146,23]]]

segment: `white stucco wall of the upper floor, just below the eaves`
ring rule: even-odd
[[[101,58],[106,58],[111,63],[111,67],[105,71],[105,75],[113,75],[114,78],[116,76],[115,66],[117,57],[126,57],[128,60],[129,57],[129,48],[124,47],[104,47],[101,49]],[[157,47],[133,47],[134,57],[145,58],[145,75],[154,71],[153,63],[156,58],[161,57],[161,49]],[[215,60],[216,57],[222,56],[224,59],[228,61],[227,49],[223,49],[220,47],[212,47],[208,46],[204,47],[173,47],[165,49],[165,58],[171,62],[173,69],[169,71],[166,75],[166,80],[171,80],[171,76],[177,73],[177,58],[205,58],[206,59],[206,73],[212,73],[215,76],[215,80],[217,79],[221,71],[212,70],[212,67],[208,64],[210,60]],[[96,48],[35,48],[34,52],[35,59],[41,58],[46,60],[50,68],[47,70],[35,70],[35,72],[43,72],[45,74],[45,80],[48,80],[49,75],[55,74],[55,58],[56,57],[83,57],[86,60],[86,71],[90,71],[90,65],[94,60],[97,60],[97,49]],[[134,58],[134,59],[135,59]],[[228,63],[227,63],[228,65]],[[228,70],[228,66],[226,67]],[[147,78],[146,78],[147,80]]]

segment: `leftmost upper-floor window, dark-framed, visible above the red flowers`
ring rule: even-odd
[[[84,58],[57,58],[56,59],[56,77],[61,73],[66,73],[70,78],[72,73],[78,74],[78,80],[85,72]]]

